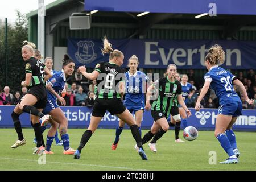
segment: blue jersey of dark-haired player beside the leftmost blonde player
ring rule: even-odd
[[[53,73],[53,76],[49,78],[47,83],[51,84],[53,90],[55,90],[55,92],[60,94],[64,89],[65,81],[66,81],[65,73],[63,70],[61,70],[59,72]],[[56,97],[51,92],[49,92],[49,90],[47,90],[47,97],[52,98],[53,100],[56,100]]]

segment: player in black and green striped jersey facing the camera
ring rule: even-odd
[[[148,144],[151,151],[156,151],[155,142],[159,140],[164,133],[169,129],[169,124],[167,122],[167,117],[171,114],[172,106],[175,102],[175,97],[177,96],[177,101],[183,107],[183,109],[190,116],[191,111],[188,110],[181,96],[181,84],[179,81],[175,80],[175,74],[177,72],[177,67],[175,64],[169,64],[167,68],[167,76],[159,78],[151,85],[147,90],[147,101],[146,110],[150,110],[151,115],[154,119],[154,123],[142,138],[142,144],[147,143],[151,138],[154,137],[151,143]],[[158,98],[153,102],[152,107],[150,105],[152,90],[158,90]]]

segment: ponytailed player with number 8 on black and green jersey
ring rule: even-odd
[[[102,53],[109,53],[109,62],[97,64],[92,73],[87,73],[84,66],[79,67],[82,75],[89,80],[95,80],[97,78],[97,85],[95,87],[96,100],[93,105],[90,125],[88,130],[82,135],[79,147],[74,154],[74,159],[80,158],[82,148],[84,148],[97,129],[106,111],[109,111],[110,114],[117,115],[118,118],[130,126],[133,138],[139,147],[138,153],[143,160],[147,160],[147,156],[142,148],[142,139],[136,121],[121,101],[123,93],[125,93],[125,71],[120,67],[123,64],[124,55],[117,49],[113,50],[108,39],[104,38],[103,43],[104,48],[102,49]]]

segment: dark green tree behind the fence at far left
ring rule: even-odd
[[[22,42],[28,39],[28,24],[26,15],[16,10],[16,20],[14,26],[8,24],[7,27],[7,65],[5,59],[5,26],[0,27],[0,85],[8,85],[11,92],[20,90],[20,82],[24,80],[24,61],[21,55]],[[6,83],[7,67],[7,83]]]

